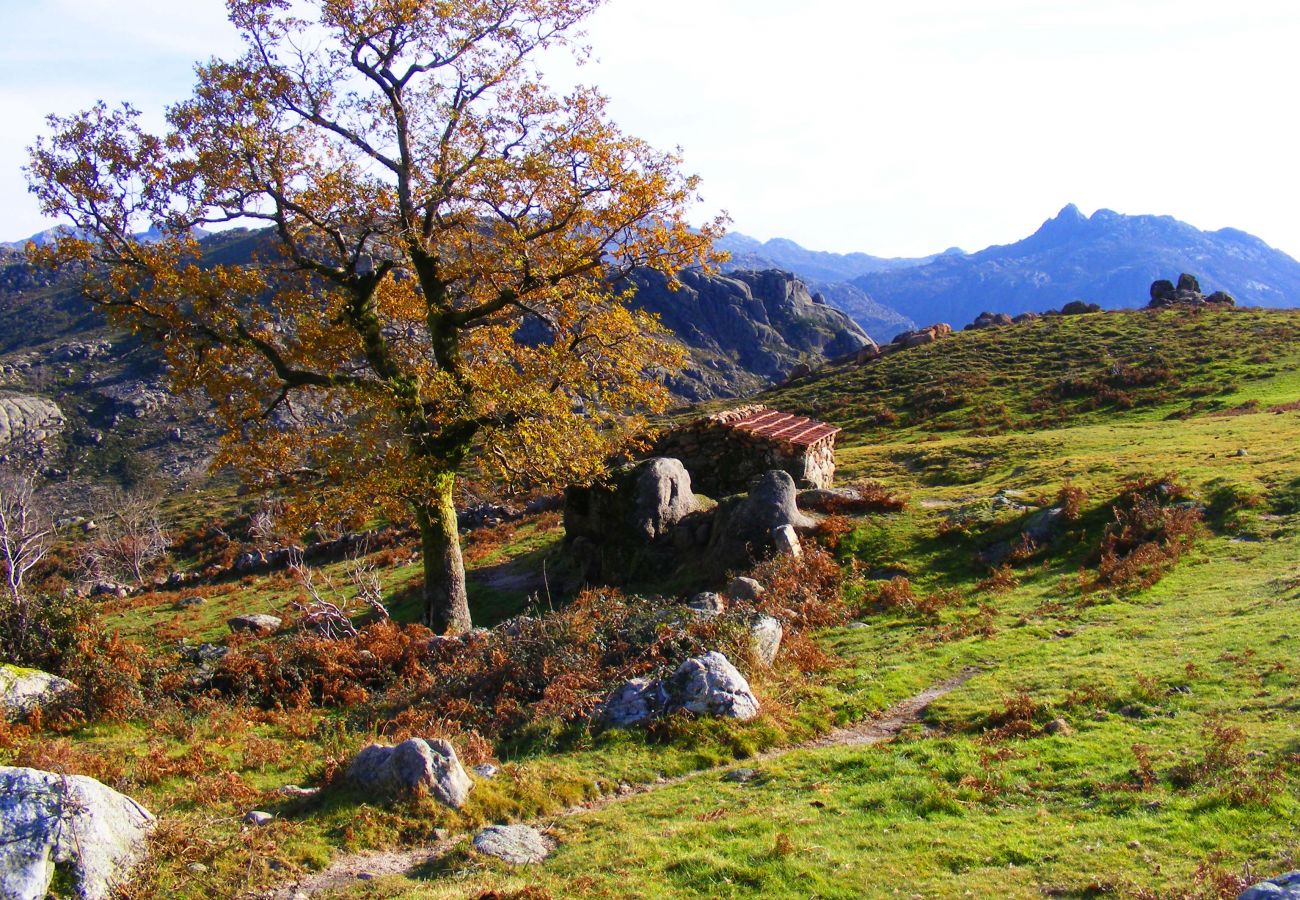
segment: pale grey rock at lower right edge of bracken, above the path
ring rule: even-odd
[[[748,722],[759,706],[745,676],[712,650],[681,663],[662,682],[628,682],[606,698],[599,718],[607,726],[628,727],[677,711]]]

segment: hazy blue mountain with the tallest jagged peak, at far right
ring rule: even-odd
[[[1083,299],[1105,308],[1145,306],[1150,284],[1200,277],[1248,306],[1300,304],[1300,263],[1236,229],[1201,232],[1170,216],[1124,216],[1070,204],[1028,238],[852,284],[916,321],[956,326],[983,311],[1043,312]]]

